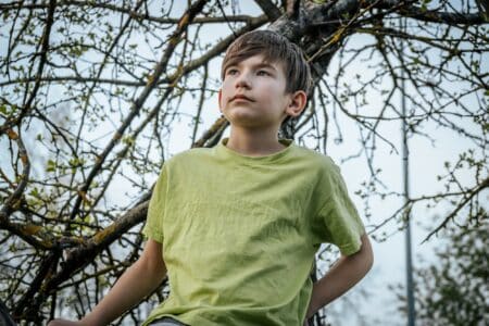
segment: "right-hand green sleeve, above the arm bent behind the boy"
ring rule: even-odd
[[[358,252],[365,227],[348,196],[339,167],[331,162],[324,180],[324,202],[313,223],[315,241],[337,246],[344,255]]]

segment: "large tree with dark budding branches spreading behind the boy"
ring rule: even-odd
[[[313,70],[310,106],[281,133],[327,152],[331,140],[343,142],[343,122],[354,122],[353,156],[371,171],[358,192],[365,200],[399,195],[377,189],[375,154],[397,152],[386,126],[405,120],[410,137],[429,138],[424,128],[436,124],[471,142],[440,176],[447,191],[412,198],[386,223],[402,227],[402,212],[423,203],[453,206],[432,234],[466,208],[481,218],[476,208],[489,185],[485,8],[467,0],[281,2],[256,0],[261,13],[225,0],[0,4],[0,296],[17,321],[40,324],[66,304],[84,314],[137,259],[168,148],[211,147],[223,136],[226,121],[210,111],[216,63],[255,28],[299,43]],[[405,116],[400,95],[411,108]],[[457,178],[462,166],[471,185]],[[158,290],[117,323],[140,321],[163,296]]]

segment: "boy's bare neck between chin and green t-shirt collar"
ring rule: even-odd
[[[239,127],[231,127],[226,147],[248,156],[269,155],[285,148],[276,130],[250,131]]]

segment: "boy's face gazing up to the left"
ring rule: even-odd
[[[287,115],[293,115],[293,95],[285,89],[281,64],[265,63],[262,55],[253,55],[224,72],[220,109],[231,125],[278,129]]]

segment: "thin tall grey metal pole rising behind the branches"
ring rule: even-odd
[[[403,18],[401,21],[401,30],[405,32],[405,25],[403,24]],[[404,42],[401,40],[401,49],[400,55],[404,52]],[[402,58],[401,58],[401,62]],[[408,203],[410,199],[410,179],[409,179],[409,148],[408,148],[408,125],[406,113],[405,113],[405,84],[404,84],[404,68],[401,67],[401,109],[402,109],[402,172],[404,176],[404,204]],[[404,218],[406,223],[405,227],[405,265],[406,265],[406,291],[408,291],[408,326],[414,326],[415,319],[415,309],[414,309],[414,284],[413,284],[413,260],[411,253],[411,218],[410,218],[410,209],[406,206],[404,211]]]

